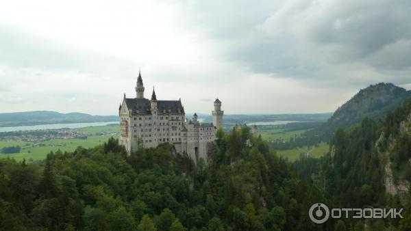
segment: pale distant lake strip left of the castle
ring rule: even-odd
[[[119,122],[90,122],[90,123],[74,123],[74,124],[41,124],[32,126],[5,126],[0,128],[0,133],[7,131],[32,131],[45,129],[59,128],[84,128],[86,126],[105,126],[107,124],[119,124]]]

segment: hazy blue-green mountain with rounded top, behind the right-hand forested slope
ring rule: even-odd
[[[290,142],[278,141],[272,146],[275,149],[287,149],[318,144],[321,141],[329,142],[338,128],[360,124],[364,118],[377,121],[383,118],[387,111],[394,111],[406,98],[411,98],[411,91],[397,87],[393,83],[370,85],[338,107],[323,126],[307,131]]]

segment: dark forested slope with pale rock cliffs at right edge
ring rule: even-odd
[[[404,219],[347,220],[371,230],[411,230],[411,99],[375,122],[339,128],[321,159],[293,163],[338,208],[404,208]],[[359,224],[357,224],[359,223]]]

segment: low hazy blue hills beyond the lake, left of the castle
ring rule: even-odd
[[[58,113],[56,111],[25,111],[13,113],[0,113],[0,127],[111,121],[119,121],[119,117],[92,116],[86,113],[78,112]]]

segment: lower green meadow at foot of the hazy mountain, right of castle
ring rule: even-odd
[[[302,148],[293,148],[290,150],[276,150],[280,157],[287,158],[290,161],[295,161],[299,158],[300,154],[308,154],[309,157],[321,157],[325,153],[329,152],[329,146],[327,143],[321,143],[318,146],[305,146]]]

